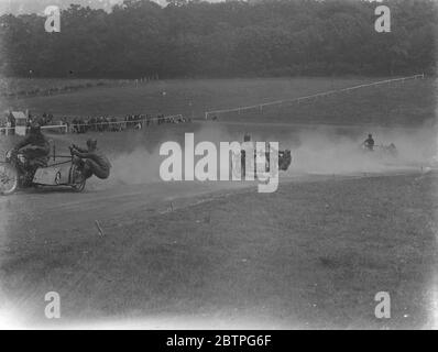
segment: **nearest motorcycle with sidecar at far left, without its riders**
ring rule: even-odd
[[[53,164],[31,167],[26,150],[10,150],[4,161],[0,162],[0,194],[12,195],[19,189],[39,187],[70,187],[74,191],[83,191],[86,178],[74,162],[74,156],[55,155],[53,147]],[[64,161],[57,162],[56,158]]]

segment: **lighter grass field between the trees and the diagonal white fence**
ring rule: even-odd
[[[373,79],[276,78],[160,80],[128,87],[97,87],[68,95],[3,99],[2,109],[12,106],[55,114],[184,113],[204,117],[210,109],[295,98],[319,91],[350,87]],[[166,92],[163,96],[163,92]]]

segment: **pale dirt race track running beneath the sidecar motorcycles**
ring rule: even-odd
[[[282,177],[280,182],[284,184],[342,180],[416,173],[418,169],[398,168],[385,174],[302,174]],[[67,187],[42,187],[0,197],[2,220],[4,220],[0,229],[2,233],[0,241],[28,242],[36,235],[56,240],[59,233],[97,233],[96,220],[101,224],[134,221],[141,213],[145,217],[161,215],[238,193],[256,193],[258,185],[256,182],[162,182],[116,187],[105,187],[102,184],[105,185],[105,182],[92,179],[91,185],[79,194]]]

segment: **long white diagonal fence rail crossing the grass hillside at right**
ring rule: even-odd
[[[374,82],[371,82],[371,84],[363,84],[363,85],[353,86],[353,87],[328,90],[328,91],[322,91],[322,92],[318,92],[318,94],[315,94],[315,95],[305,96],[305,97],[298,97],[298,98],[294,98],[294,99],[275,100],[275,101],[263,102],[263,103],[259,103],[259,105],[254,105],[254,106],[245,106],[245,107],[238,107],[238,108],[231,108],[231,109],[220,109],[220,110],[206,111],[205,112],[205,119],[208,120],[208,117],[210,114],[215,116],[215,114],[225,113],[225,112],[238,112],[238,113],[240,113],[242,111],[253,110],[253,109],[259,109],[260,111],[263,111],[263,107],[283,105],[283,103],[291,103],[291,102],[299,103],[300,101],[304,101],[304,100],[315,99],[315,98],[319,98],[319,97],[327,97],[327,96],[330,96],[330,95],[340,94],[340,92],[344,92],[344,91],[348,92],[348,91],[360,89],[360,88],[381,86],[381,85],[388,85],[391,82],[397,82],[397,81],[404,82],[405,80],[417,79],[417,78],[421,78],[421,79],[425,78],[425,74],[414,75],[414,76],[408,76],[408,77],[401,77],[401,78],[393,78],[393,79],[384,79],[384,80],[379,80],[379,81],[374,81]]]

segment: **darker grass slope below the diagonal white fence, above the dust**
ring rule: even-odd
[[[412,80],[259,109],[218,114],[223,121],[419,127],[431,122],[437,103],[435,79]]]

